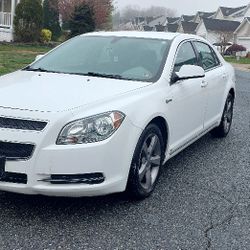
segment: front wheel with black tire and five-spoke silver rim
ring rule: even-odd
[[[155,124],[150,124],[137,143],[126,192],[135,199],[144,199],[154,190],[164,160],[165,146],[162,133]]]

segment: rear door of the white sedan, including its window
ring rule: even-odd
[[[221,107],[228,80],[224,66],[221,64],[213,48],[200,41],[193,42],[199,55],[200,65],[206,72],[207,104],[204,117],[204,129],[216,125],[221,116]]]

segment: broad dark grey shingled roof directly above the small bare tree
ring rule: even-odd
[[[207,30],[212,31],[223,31],[223,32],[234,32],[240,25],[240,22],[203,18],[203,23]]]

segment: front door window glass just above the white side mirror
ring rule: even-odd
[[[197,57],[190,42],[180,45],[174,64],[174,72],[178,72],[183,65],[198,65]]]

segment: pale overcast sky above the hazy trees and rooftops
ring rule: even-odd
[[[250,0],[115,0],[120,9],[126,5],[138,5],[141,8],[164,6],[175,9],[177,15],[194,14],[196,11],[215,11],[219,6],[238,7],[247,5]]]

